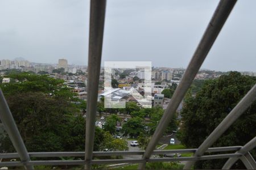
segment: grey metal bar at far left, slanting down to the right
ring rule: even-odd
[[[19,158],[26,169],[34,169],[31,165],[26,165],[30,161],[27,148],[24,145],[19,130],[15,124],[13,115],[8,107],[8,104],[3,96],[2,90],[0,90],[0,119],[5,126],[5,130],[13,143],[15,150],[18,152]]]

